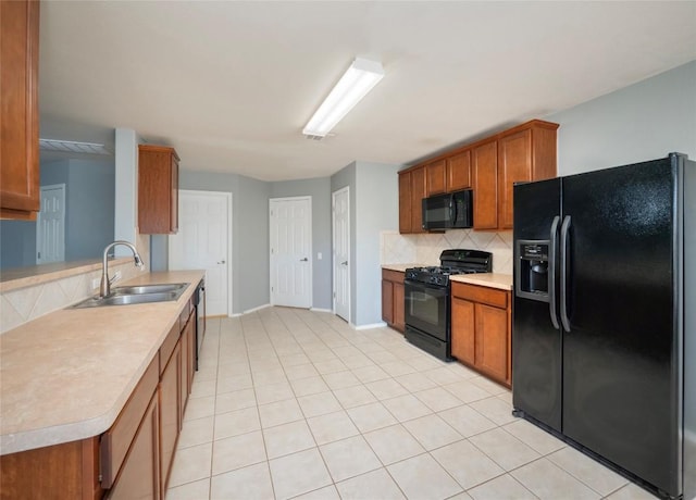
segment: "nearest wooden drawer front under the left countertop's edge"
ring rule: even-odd
[[[111,488],[160,379],[154,357],[116,422],[101,436],[101,487]]]

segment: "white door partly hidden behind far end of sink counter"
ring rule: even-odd
[[[206,270],[206,314],[232,312],[232,193],[179,190],[170,270]]]

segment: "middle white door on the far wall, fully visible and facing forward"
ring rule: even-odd
[[[271,212],[271,303],[312,307],[312,199],[278,198]]]

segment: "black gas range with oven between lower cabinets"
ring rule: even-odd
[[[493,253],[444,250],[439,266],[410,267],[405,276],[406,339],[440,360],[451,360],[450,276],[490,273]]]

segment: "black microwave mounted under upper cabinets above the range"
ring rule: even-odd
[[[423,198],[423,229],[465,229],[473,220],[471,189]]]

